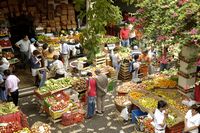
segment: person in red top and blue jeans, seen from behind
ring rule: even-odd
[[[88,80],[87,80],[87,119],[90,119],[93,117],[94,115],[94,111],[95,111],[95,98],[96,98],[96,80],[92,77],[92,73],[88,72]]]

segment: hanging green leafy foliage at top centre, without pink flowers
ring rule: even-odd
[[[112,3],[112,0],[90,0],[87,13],[80,15],[80,18],[87,18],[87,27],[82,31],[81,40],[89,62],[100,51],[100,37],[106,33],[105,26],[122,20],[119,7]]]

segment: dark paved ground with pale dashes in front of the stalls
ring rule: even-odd
[[[46,113],[39,113],[39,106],[35,96],[20,99],[20,108],[28,116],[28,122],[33,125],[36,121],[48,123],[52,127],[52,133],[135,133],[131,122],[124,123],[116,110],[113,94],[108,94],[105,100],[105,112],[103,115],[95,115],[92,119],[84,120],[70,126],[63,126],[59,122],[50,121]]]

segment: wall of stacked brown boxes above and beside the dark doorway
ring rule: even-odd
[[[75,10],[68,0],[19,0],[0,1],[0,20],[5,16],[30,15],[35,27],[43,27],[46,32],[56,32],[61,29],[76,29]]]

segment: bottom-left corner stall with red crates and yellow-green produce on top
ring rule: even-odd
[[[27,117],[12,102],[0,103],[0,132],[13,133],[29,130]]]

